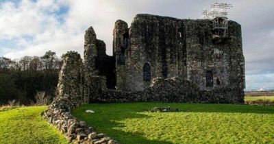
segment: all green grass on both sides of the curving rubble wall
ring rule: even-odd
[[[264,99],[245,97],[245,100]],[[265,99],[274,100],[274,97]],[[183,112],[144,112],[155,106]],[[47,106],[0,108],[0,144],[67,143],[40,117]],[[84,111],[95,110],[94,114]],[[274,106],[226,104],[88,104],[73,111],[121,143],[274,143]]]

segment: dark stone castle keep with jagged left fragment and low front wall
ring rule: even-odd
[[[110,97],[110,101],[242,103],[245,60],[241,29],[234,21],[228,24],[227,37],[216,42],[211,20],[138,14],[130,27],[125,21],[116,21],[112,57],[105,54],[105,44],[96,39],[90,27],[85,36],[85,51],[90,51],[84,53],[85,95],[90,97],[90,102],[108,101],[106,95],[116,97],[114,95],[121,92],[127,95],[141,91],[137,96],[140,99],[122,94],[116,100]],[[86,50],[86,45],[91,44],[94,50]],[[184,79],[186,84],[176,86],[172,84],[175,82],[172,77]],[[158,87],[151,87],[153,80],[159,81]],[[207,85],[208,81],[212,86]],[[107,90],[102,83],[106,83],[106,88],[116,86],[119,91]],[[167,93],[162,88],[173,91]],[[214,98],[201,100],[203,91],[213,94]],[[148,99],[144,93],[153,98]]]

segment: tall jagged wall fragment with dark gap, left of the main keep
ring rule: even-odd
[[[107,88],[115,88],[115,58],[106,55],[105,43],[97,39],[94,29],[90,27],[86,30],[84,45],[84,95],[91,96],[91,101],[96,99],[92,95],[97,93],[95,82],[100,81],[98,77],[102,77]]]

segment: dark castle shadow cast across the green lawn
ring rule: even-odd
[[[238,113],[258,113],[274,114],[274,107],[269,106],[247,106],[232,104],[169,104],[169,103],[127,103],[127,104],[88,104],[73,110],[73,115],[78,119],[86,121],[94,126],[98,132],[103,132],[120,143],[138,144],[169,144],[167,141],[149,140],[144,133],[125,132],[116,130],[125,127],[124,119],[149,119],[150,116],[143,115],[144,109],[155,106],[170,106],[180,108],[184,112],[238,112]],[[87,114],[86,110],[95,110],[94,114]],[[93,117],[96,117],[94,119]],[[155,124],[155,123],[154,123]]]

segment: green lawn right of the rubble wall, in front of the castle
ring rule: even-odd
[[[155,106],[184,112],[144,112]],[[95,110],[95,113],[85,113]],[[274,143],[274,107],[229,104],[88,104],[73,110],[123,144]]]

